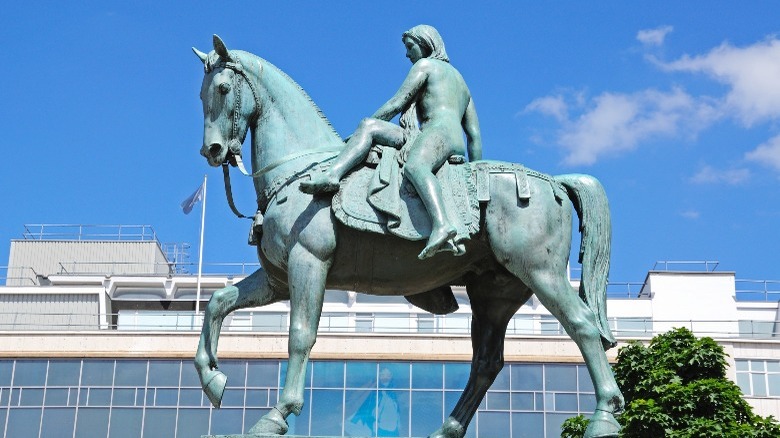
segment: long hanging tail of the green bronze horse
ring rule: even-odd
[[[608,350],[617,345],[617,341],[607,322],[607,276],[612,239],[607,194],[601,183],[590,175],[559,175],[555,179],[566,188],[580,218],[580,298],[595,314],[601,342]]]

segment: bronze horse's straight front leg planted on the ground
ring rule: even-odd
[[[290,338],[287,377],[279,402],[255,424],[250,433],[283,435],[287,432],[286,418],[300,415],[303,409],[306,366],[309,354],[317,340],[317,327],[325,296],[325,280],[331,261],[322,260],[302,245],[290,252],[288,281],[290,285]]]

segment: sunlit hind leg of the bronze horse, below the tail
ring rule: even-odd
[[[585,431],[585,438],[617,437],[620,425],[613,414],[623,409],[623,395],[607,362],[596,316],[571,287],[563,270],[560,274],[532,271],[527,283],[577,343],[593,380],[596,411]]]

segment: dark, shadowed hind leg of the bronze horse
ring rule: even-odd
[[[490,385],[504,367],[504,336],[509,320],[531,291],[506,271],[487,272],[466,281],[471,301],[474,355],[466,388],[450,417],[431,438],[461,438]]]

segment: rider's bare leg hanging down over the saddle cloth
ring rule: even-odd
[[[441,185],[433,174],[450,155],[449,151],[442,153],[444,147],[440,140],[431,137],[426,139],[420,135],[416,144],[409,151],[409,158],[404,164],[404,175],[414,185],[431,216],[431,236],[428,238],[425,249],[418,256],[421,259],[431,257],[439,252],[442,246],[457,234],[455,227],[447,220]]]

